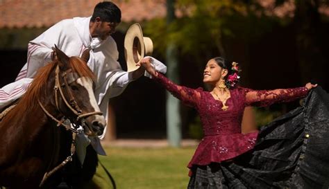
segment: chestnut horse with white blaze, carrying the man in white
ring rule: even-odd
[[[87,136],[98,136],[106,126],[94,97],[94,75],[85,61],[89,51],[82,58],[68,57],[57,46],[55,52],[57,59],[37,72],[24,96],[0,120],[0,186],[54,188],[63,177],[88,181],[96,171],[92,148],[83,165],[92,161],[90,168],[70,162],[75,159],[75,128],[81,125]],[[84,169],[92,171],[83,174]]]

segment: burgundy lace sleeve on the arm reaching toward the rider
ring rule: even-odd
[[[153,80],[162,84],[172,95],[174,95],[179,100],[182,100],[185,105],[196,107],[196,104],[201,99],[201,94],[199,89],[190,89],[188,87],[179,86],[171,82],[162,73],[158,73],[158,76],[154,77]],[[202,89],[200,89],[202,90]]]

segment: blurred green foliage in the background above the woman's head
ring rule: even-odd
[[[144,33],[160,54],[165,55],[167,44],[175,44],[180,55],[199,65],[207,58],[225,56],[224,40],[254,40],[278,23],[275,18],[260,16],[262,9],[254,1],[177,0],[175,8],[179,16],[171,24],[154,19],[146,23]]]

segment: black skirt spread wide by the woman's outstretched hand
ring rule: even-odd
[[[232,161],[192,168],[188,188],[329,188],[329,94],[261,128],[255,148]]]

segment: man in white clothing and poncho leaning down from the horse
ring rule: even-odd
[[[92,17],[74,17],[65,19],[42,33],[28,43],[27,62],[17,75],[16,81],[3,87],[0,91],[0,110],[20,98],[26,91],[37,69],[56,57],[52,50],[54,44],[68,56],[80,56],[85,49],[90,49],[87,65],[96,76],[94,94],[96,101],[108,118],[108,101],[118,96],[128,83],[140,78],[144,69],[126,72],[121,69],[117,44],[110,36],[121,21],[121,10],[112,2],[98,3]],[[92,144],[98,154],[105,155],[99,137],[77,136],[80,144]],[[84,161],[85,146],[77,149],[81,163]]]

